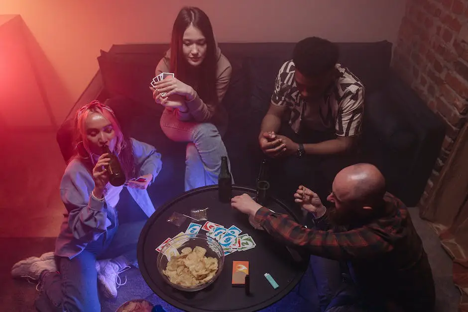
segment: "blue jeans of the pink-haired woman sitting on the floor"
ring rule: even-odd
[[[74,258],[60,257],[60,273],[48,272],[42,277],[36,309],[40,312],[100,312],[96,260],[123,255],[127,263],[136,265],[136,245],[145,222],[119,225],[89,243]]]

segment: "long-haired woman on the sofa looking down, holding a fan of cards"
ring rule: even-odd
[[[165,106],[160,125],[176,142],[188,142],[185,190],[218,183],[221,157],[228,156],[220,133],[228,115],[221,102],[232,67],[221,54],[208,16],[198,7],[180,10],[172,28],[171,48],[156,67],[156,76],[173,73],[151,88]]]

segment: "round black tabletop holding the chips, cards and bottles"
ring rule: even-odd
[[[233,196],[255,191],[240,186],[233,186]],[[268,208],[291,216],[291,211],[276,199],[269,199]],[[185,232],[190,222],[187,219],[180,227],[167,222],[173,212],[190,216],[191,209],[208,209],[208,221],[221,224],[226,228],[232,225],[254,239],[256,247],[245,251],[236,251],[225,257],[224,268],[219,278],[208,288],[198,292],[183,292],[168,285],[158,272],[155,250],[167,237]],[[204,221],[195,222],[201,225]],[[200,230],[200,233],[206,233]],[[206,186],[186,192],[173,201],[160,207],[148,219],[141,231],[138,248],[138,265],[145,282],[160,298],[172,306],[190,312],[235,311],[250,312],[263,309],[286,296],[299,282],[307,269],[308,258],[295,261],[288,249],[264,231],[254,230],[244,215],[231,207],[230,203],[221,203],[218,199],[218,186]],[[232,287],[233,260],[249,261],[250,295],[245,295],[244,288]],[[270,275],[278,283],[276,290],[263,276]]]

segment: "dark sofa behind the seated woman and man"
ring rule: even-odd
[[[291,58],[294,43],[221,43],[220,47],[233,66],[223,101],[230,116],[224,141],[236,184],[252,186],[262,158],[257,143],[260,122],[278,70]],[[377,165],[388,190],[414,206],[439,154],[445,127],[391,71],[391,43],[339,43],[339,47],[340,63],[366,88],[361,161]],[[94,98],[103,101],[112,98],[111,106],[124,130],[162,154],[163,170],[149,189],[156,207],[184,190],[185,144],[172,142],[162,133],[163,108],[154,103],[148,88],[167,49],[166,44],[141,44],[114,45],[109,52],[101,51],[100,71],[85,91],[89,97],[94,90]],[[64,159],[72,153],[68,130],[72,117],[57,135]]]

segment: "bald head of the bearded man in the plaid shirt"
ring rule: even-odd
[[[333,182],[335,195],[343,202],[377,205],[385,194],[385,178],[377,167],[358,163],[338,172]]]

